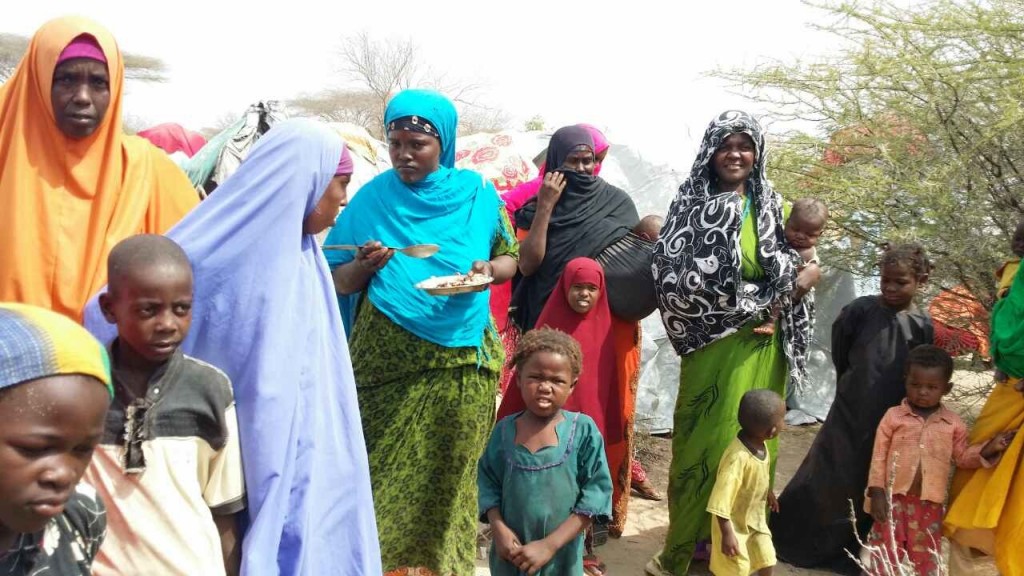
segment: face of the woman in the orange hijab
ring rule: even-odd
[[[50,105],[57,127],[69,138],[92,135],[111,106],[111,76],[92,58],[65,60],[53,71]]]

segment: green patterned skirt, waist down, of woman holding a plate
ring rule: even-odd
[[[385,572],[473,573],[476,461],[498,377],[469,366],[359,387]]]

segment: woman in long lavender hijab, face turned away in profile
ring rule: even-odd
[[[337,133],[289,120],[167,234],[196,277],[182,347],[234,387],[248,576],[382,573],[348,346],[314,238],[345,204],[351,172]],[[102,333],[95,313],[87,326]]]

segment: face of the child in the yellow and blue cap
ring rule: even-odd
[[[77,374],[0,392],[0,544],[63,512],[103,434],[106,387]]]

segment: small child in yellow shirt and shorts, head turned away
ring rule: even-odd
[[[785,427],[784,417],[785,402],[769,389],[751,390],[739,401],[739,434],[722,455],[708,502],[712,574],[772,574],[775,547],[766,510],[778,511],[778,500],[765,442]]]

